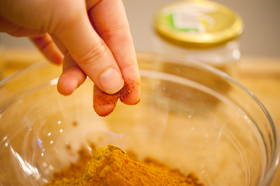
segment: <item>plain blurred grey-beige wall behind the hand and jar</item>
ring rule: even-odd
[[[244,20],[240,37],[241,54],[280,57],[279,0],[213,0],[236,11]],[[153,17],[162,6],[175,0],[123,0],[135,49],[151,51]],[[36,48],[27,38],[13,38],[0,33],[0,43],[6,48]]]

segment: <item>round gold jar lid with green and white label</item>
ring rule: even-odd
[[[171,3],[156,14],[156,32],[184,47],[212,47],[238,37],[241,17],[229,8],[206,0]]]

